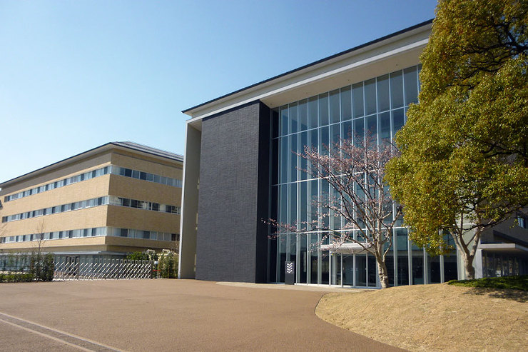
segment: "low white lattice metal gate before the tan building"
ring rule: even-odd
[[[101,280],[118,278],[153,278],[153,261],[93,258],[64,260],[55,263],[54,280]]]

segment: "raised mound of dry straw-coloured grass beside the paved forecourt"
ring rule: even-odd
[[[528,351],[528,292],[447,284],[328,293],[325,321],[411,351]]]

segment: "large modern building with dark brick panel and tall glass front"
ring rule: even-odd
[[[296,283],[380,286],[375,259],[364,251],[330,251],[316,232],[273,238],[263,220],[306,221],[317,216],[313,199],[328,193],[327,183],[298,169],[303,160],[292,151],[322,149],[340,136],[365,131],[392,139],[405,124],[407,107],[420,91],[420,54],[431,26],[432,21],[417,24],[183,111],[191,119],[183,171],[182,278],[280,283],[285,262],[293,261]],[[342,223],[331,226],[339,231]],[[511,232],[508,226],[504,233]],[[485,237],[492,243],[481,246],[477,276],[527,272],[528,231],[515,231]],[[409,241],[401,221],[393,236],[387,258],[391,285],[464,276],[456,252],[427,255]]]

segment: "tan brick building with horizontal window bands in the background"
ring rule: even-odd
[[[176,249],[183,156],[111,142],[0,183],[0,256],[73,260]]]

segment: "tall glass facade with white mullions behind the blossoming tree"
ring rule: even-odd
[[[332,230],[342,231],[344,219],[332,214],[321,216],[327,210],[315,202],[332,192],[328,182],[310,178],[303,171],[308,169],[307,161],[296,153],[313,147],[324,154],[340,139],[364,138],[366,133],[378,144],[392,141],[405,124],[409,104],[418,101],[419,71],[420,66],[412,66],[275,109],[270,218],[289,224],[321,221]],[[271,231],[275,232],[273,228]],[[447,281],[450,275],[446,276],[445,270],[452,270],[452,266],[445,263],[451,263],[450,257],[455,258],[456,275],[455,254],[428,256],[408,240],[401,220],[393,236],[394,245],[387,254],[391,286]],[[294,261],[297,283],[380,287],[374,256],[324,251],[321,245],[328,244],[324,233],[280,232],[268,241],[270,282],[284,282],[285,261]]]

